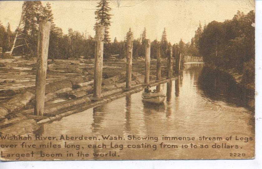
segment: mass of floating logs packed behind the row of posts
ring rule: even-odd
[[[44,116],[35,116],[35,60],[2,59],[0,63],[0,133],[29,133],[45,121],[143,90],[144,62],[141,60],[133,60],[131,85],[135,89],[129,92],[124,90],[126,62],[105,59],[102,80],[104,99],[94,101],[90,99],[94,83],[93,59],[48,59]],[[156,79],[156,60],[151,60],[151,63],[150,83],[153,83]],[[163,60],[162,77],[166,76],[166,65],[166,60]],[[17,130],[21,124],[23,129]]]

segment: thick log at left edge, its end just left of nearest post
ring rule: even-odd
[[[34,94],[26,91],[25,93],[14,96],[6,103],[0,104],[0,119],[4,118],[9,113],[15,110],[24,108],[34,98]]]

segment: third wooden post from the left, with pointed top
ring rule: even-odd
[[[132,81],[132,54],[133,54],[133,32],[129,29],[126,34],[127,56],[126,56],[126,88],[131,88]]]

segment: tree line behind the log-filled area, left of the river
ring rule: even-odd
[[[109,8],[109,2],[101,0],[98,3],[97,10],[95,11],[95,25],[103,24],[105,26],[104,58],[109,58],[111,55],[118,55],[119,58],[124,58],[124,38],[120,41],[118,41],[117,38],[114,38],[114,41],[111,42],[111,38],[109,36],[108,29],[111,24],[110,18],[112,16],[109,14],[110,10],[111,8]],[[11,53],[15,55],[27,55],[29,57],[36,56],[38,23],[41,20],[49,20],[52,22],[48,52],[49,58],[68,59],[79,58],[80,56],[94,58],[94,37],[88,35],[86,32],[80,33],[72,28],[68,28],[68,32],[64,33],[63,30],[56,27],[54,23],[51,4],[48,2],[44,6],[40,1],[25,1],[23,3],[21,20],[15,32],[11,31],[10,24],[8,24],[8,27],[5,28],[2,26],[0,21],[0,47],[2,47],[2,51],[9,53],[11,51]],[[144,42],[147,38],[146,34],[146,28],[144,28],[143,32],[140,34],[140,37],[134,39],[134,58],[144,57]],[[197,54],[196,46],[194,45],[194,38],[191,43],[184,43],[181,39],[179,43],[172,45],[167,40],[166,28],[163,30],[160,41],[155,39],[151,42],[151,58],[156,58],[158,44],[161,45],[161,56],[163,58],[167,56],[169,46],[172,46],[173,57],[176,57],[180,53],[183,53],[184,55]]]

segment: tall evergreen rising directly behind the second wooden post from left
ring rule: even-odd
[[[111,8],[109,7],[109,2],[107,2],[106,0],[101,0],[98,5],[96,6],[96,8],[98,8],[95,11],[95,19],[96,19],[96,23],[95,26],[100,24],[100,25],[104,25],[105,29],[104,29],[104,42],[105,43],[109,43],[110,42],[110,37],[109,37],[109,26],[111,26],[111,14],[109,14],[109,11],[111,10]]]

